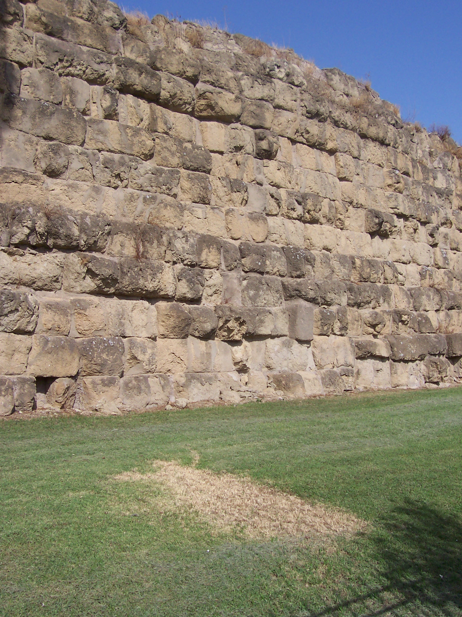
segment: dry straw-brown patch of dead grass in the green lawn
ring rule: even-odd
[[[198,458],[196,457],[196,462]],[[250,537],[353,534],[367,527],[354,515],[306,501],[250,479],[215,474],[195,466],[155,461],[147,474],[125,472],[118,481],[155,482],[167,487],[176,507],[193,508],[220,531],[241,529]]]

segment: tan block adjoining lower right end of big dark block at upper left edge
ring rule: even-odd
[[[89,119],[85,145],[89,149],[132,154],[144,160],[150,159],[154,152],[154,141],[147,131],[114,120]]]

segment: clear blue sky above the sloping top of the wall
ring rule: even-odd
[[[450,126],[462,142],[461,0],[125,0],[139,9],[212,20],[291,47],[320,68],[368,78],[403,118]]]

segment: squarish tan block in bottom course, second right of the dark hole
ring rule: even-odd
[[[81,411],[118,413],[120,378],[116,376],[86,376],[77,381],[74,407]]]

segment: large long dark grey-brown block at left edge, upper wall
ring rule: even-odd
[[[85,139],[86,123],[79,112],[15,94],[4,99],[2,120],[18,131],[64,144],[80,146]]]

